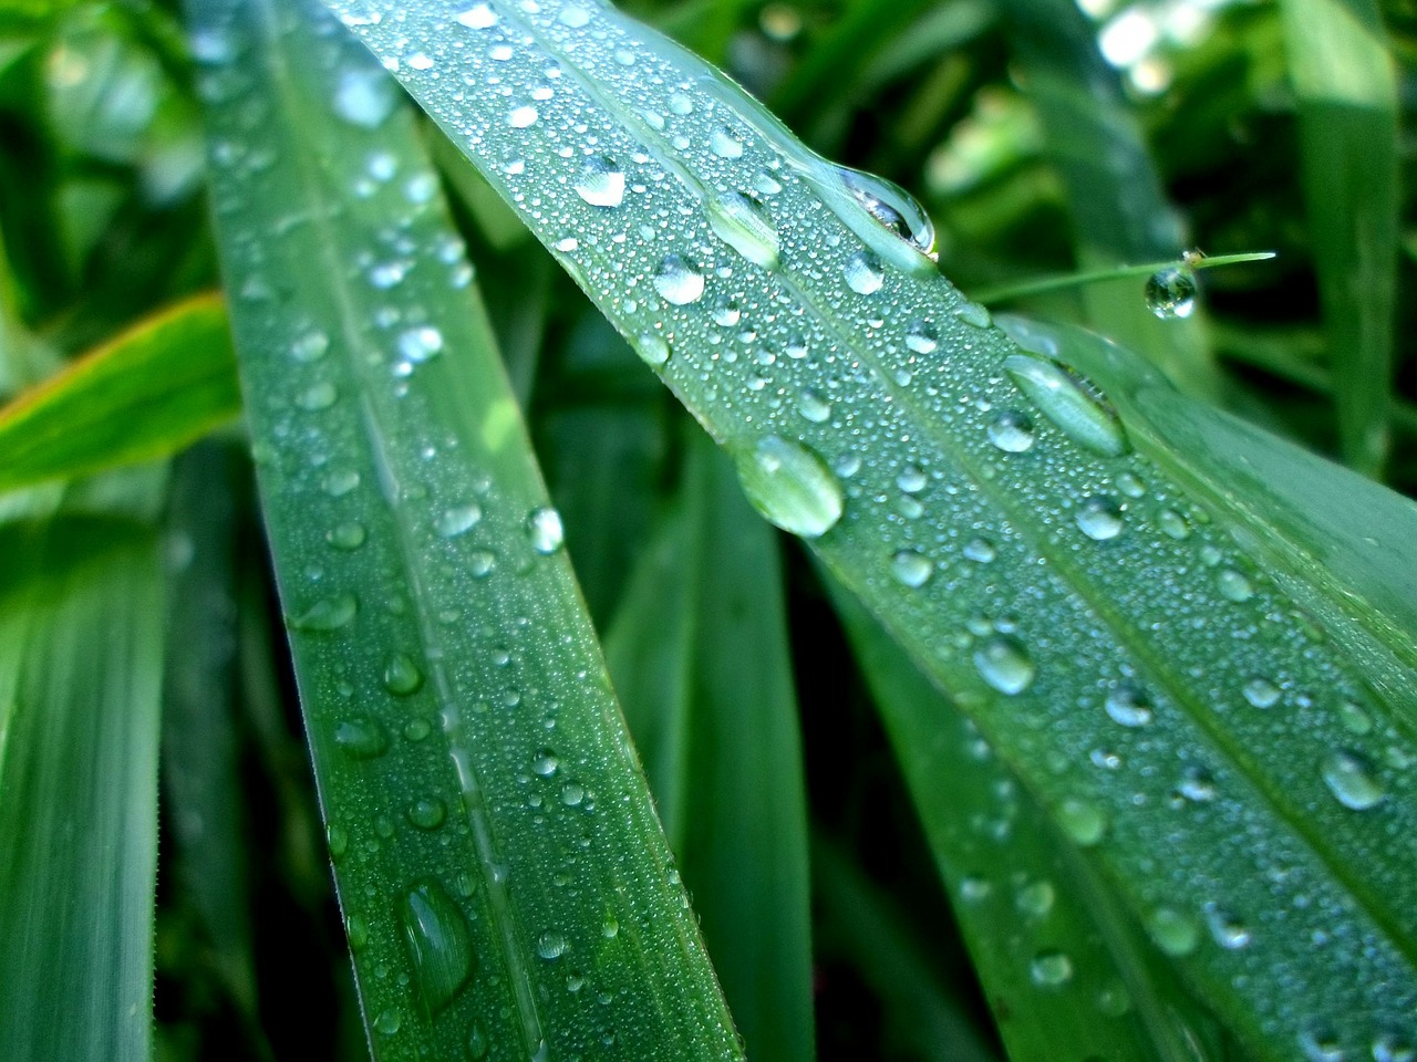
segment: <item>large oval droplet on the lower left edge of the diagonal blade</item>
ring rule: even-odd
[[[842,484],[805,446],[769,435],[735,463],[748,501],[784,531],[816,538],[840,520]]]

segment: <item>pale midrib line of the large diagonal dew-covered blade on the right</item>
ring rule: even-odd
[[[674,174],[680,184],[683,184],[703,202],[713,198],[704,184],[683,163],[680,163],[677,157],[674,157],[673,152],[669,150],[669,142],[663,135],[642,122],[638,115],[633,115],[622,108],[612,93],[606,93],[601,89],[599,84],[582,71],[578,62],[571,59],[570,52],[554,45],[553,42],[548,42],[546,35],[541,34],[534,24],[521,17],[521,13],[514,4],[509,4],[506,0],[490,0],[490,3],[497,7],[502,14],[507,16],[509,21],[514,23],[523,33],[531,37],[543,48],[543,51],[548,55],[557,57],[575,82],[585,89],[594,101],[604,106],[606,112],[622,126],[633,130],[639,142],[652,152],[655,160],[660,163],[666,171]],[[618,11],[611,10],[611,17],[616,18]],[[1237,739],[1231,739],[1223,728],[1209,722],[1207,712],[1204,711],[1204,705],[1200,698],[1190,692],[1190,688],[1185,681],[1178,681],[1180,678],[1179,673],[1166,666],[1161,651],[1152,649],[1148,640],[1135,630],[1134,624],[1124,622],[1121,613],[1104,599],[1104,595],[1094,589],[1090,579],[1085,578],[1085,572],[1081,565],[1073,564],[1067,551],[1051,549],[1047,542],[1047,537],[1034,530],[1027,510],[1020,503],[1015,501],[1007,491],[995,484],[993,480],[983,476],[975,462],[969,457],[968,452],[956,446],[952,438],[947,432],[941,430],[938,422],[915,401],[913,392],[897,385],[891,379],[890,374],[886,372],[879,364],[879,360],[871,350],[864,344],[854,343],[853,333],[832,314],[822,310],[818,300],[812,297],[811,290],[803,289],[794,280],[788,272],[786,259],[782,259],[779,265],[782,268],[778,270],[764,269],[764,272],[777,276],[795,297],[801,299],[806,307],[816,313],[822,327],[832,337],[835,337],[845,350],[850,350],[853,355],[859,357],[863,364],[867,364],[871,368],[877,384],[887,392],[887,395],[897,402],[898,406],[914,415],[915,422],[928,433],[930,439],[941,449],[941,452],[944,452],[951,460],[955,462],[956,467],[971,477],[973,486],[976,486],[979,491],[1005,515],[1010,528],[1033,548],[1037,556],[1047,561],[1051,571],[1058,575],[1058,579],[1064,582],[1077,595],[1077,598],[1087,605],[1087,607],[1095,612],[1118,643],[1128,651],[1134,653],[1152,674],[1162,680],[1161,684],[1168,690],[1168,692],[1170,692],[1192,724],[1207,735],[1216,748],[1231,760],[1231,763],[1237,767],[1237,773],[1246,777],[1250,787],[1260,796],[1261,800],[1264,800],[1274,817],[1282,821],[1295,835],[1308,843],[1308,851],[1323,864],[1333,879],[1343,884],[1349,895],[1357,899],[1363,910],[1373,919],[1374,925],[1377,925],[1389,937],[1394,949],[1403,954],[1404,959],[1407,959],[1411,967],[1417,969],[1417,942],[1407,939],[1407,936],[1394,923],[1393,918],[1387,915],[1386,906],[1379,902],[1379,898],[1372,895],[1369,888],[1363,888],[1360,885],[1360,879],[1349,872],[1348,861],[1342,857],[1342,854],[1329,850],[1328,844],[1323,843],[1318,826],[1308,821],[1308,818],[1302,814],[1302,809],[1289,807],[1288,803],[1281,803],[1281,794],[1272,792],[1270,786],[1263,784],[1263,772],[1254,770],[1257,758],[1244,755]],[[949,287],[949,290],[955,290],[947,278],[938,273],[937,276],[939,280],[934,282],[935,286],[944,283]],[[812,548],[820,551],[820,547],[815,544],[812,544]],[[825,551],[822,551],[822,554],[823,559],[837,578],[842,578],[847,585],[854,585],[856,581],[852,578],[852,572],[837,569],[837,566],[832,562],[830,555]]]

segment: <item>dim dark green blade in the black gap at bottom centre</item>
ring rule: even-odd
[[[826,932],[842,939],[880,997],[897,1038],[925,1062],[990,1062],[998,1058],[964,1005],[948,995],[924,961],[922,952],[930,942],[911,939],[911,930],[894,916],[886,898],[845,854],[820,837],[812,844],[812,886]]]

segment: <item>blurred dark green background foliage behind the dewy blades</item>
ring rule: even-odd
[[[1149,314],[1135,278],[1009,306],[1095,327],[1182,387],[1417,490],[1408,341],[1417,302],[1407,295],[1417,268],[1417,185],[1407,180],[1417,156],[1417,7],[1408,0],[1382,7],[1396,118],[1379,108],[1376,125],[1356,126],[1377,133],[1356,142],[1357,184],[1328,201],[1396,219],[1393,253],[1379,225],[1377,272],[1353,286],[1349,307],[1376,321],[1366,343],[1390,357],[1390,372],[1372,351],[1353,368],[1356,355],[1335,338],[1345,333],[1332,299],[1322,297],[1326,266],[1353,251],[1335,242],[1333,225],[1316,224],[1322,188],[1305,188],[1305,152],[1318,149],[1312,135],[1305,140],[1304,81],[1277,3],[626,7],[733,74],[820,153],[914,193],[937,225],[942,272],[972,295],[1183,248],[1277,251],[1272,262],[1204,272],[1202,306],[1186,320]],[[218,286],[190,59],[170,4],[0,0],[0,398]],[[686,416],[431,129],[429,143],[604,633],[623,573],[674,496]],[[1366,452],[1345,447],[1339,392],[1369,411],[1357,428],[1379,442]],[[227,429],[228,442],[238,433]],[[230,490],[213,513],[217,503],[196,484],[217,480]],[[222,443],[183,457],[174,473],[171,541],[215,535],[211,548],[242,589],[204,657],[207,685],[170,683],[220,702],[208,714],[221,732],[204,741],[218,741],[227,766],[220,784],[210,770],[191,775],[184,750],[210,746],[184,738],[169,704],[159,1056],[354,1059],[363,1035],[249,480],[245,457]],[[819,1055],[942,1059],[964,1056],[968,1044],[988,1056],[998,1051],[992,1018],[870,692],[811,565],[795,547],[785,556],[818,838]],[[183,828],[193,800],[213,800],[224,816],[218,895],[210,835]]]

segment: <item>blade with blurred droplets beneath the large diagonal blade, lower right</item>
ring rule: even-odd
[[[1186,1062],[1213,1022],[976,728],[830,582],[1012,1062]],[[1121,767],[1112,749],[1093,756]],[[1209,1055],[1206,1055],[1209,1056]]]

